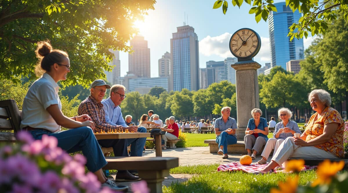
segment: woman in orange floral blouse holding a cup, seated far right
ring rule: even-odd
[[[330,107],[331,97],[322,89],[309,93],[308,101],[314,111],[300,137],[288,137],[280,144],[271,162],[261,170],[268,172],[282,165],[289,157],[337,159],[344,157],[344,121],[337,110]]]

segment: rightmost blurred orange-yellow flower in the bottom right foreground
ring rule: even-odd
[[[332,162],[325,160],[319,164],[317,170],[317,179],[311,184],[312,187],[319,184],[330,184],[331,178],[334,177],[338,171],[345,166],[345,161]]]

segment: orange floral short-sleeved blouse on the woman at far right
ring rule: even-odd
[[[338,123],[339,125],[337,131],[332,136],[332,138],[323,144],[316,145],[315,147],[328,151],[337,157],[343,158],[343,130],[345,126],[344,121],[339,112],[332,107],[326,107],[323,112],[324,115],[317,119],[315,122],[314,118],[318,113],[316,112],[310,117],[306,130],[304,131],[307,134],[306,141],[322,135],[324,131],[324,125],[329,123]]]

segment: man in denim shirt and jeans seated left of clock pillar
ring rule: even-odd
[[[215,120],[214,130],[216,134],[216,143],[219,144],[217,154],[222,155],[222,159],[227,159],[227,145],[237,143],[236,119],[230,117],[231,108],[223,107],[221,109],[221,117]]]

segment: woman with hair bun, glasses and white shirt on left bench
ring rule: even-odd
[[[49,42],[38,42],[35,53],[40,59],[38,73],[43,74],[25,95],[21,128],[30,132],[36,140],[41,140],[42,135],[56,137],[58,146],[68,153],[82,151],[88,170],[97,176],[102,187],[119,191],[127,189],[127,186],[117,186],[105,177],[102,167],[107,162],[93,134],[91,118],[88,115],[70,118],[63,115],[57,82],[66,80],[70,72],[68,53],[54,50]],[[70,129],[61,131],[61,126]]]

